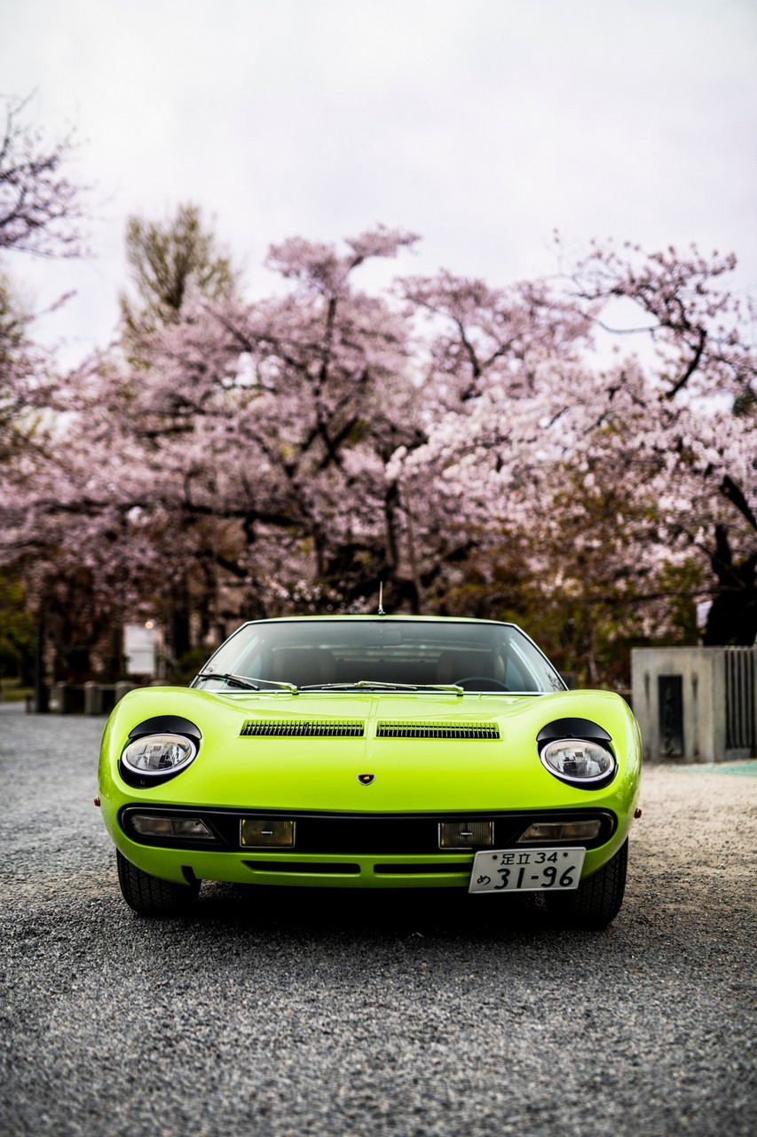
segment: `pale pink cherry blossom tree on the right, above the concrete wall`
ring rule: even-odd
[[[634,274],[596,249],[568,296],[554,283],[518,297],[449,276],[438,289],[406,287],[436,331],[427,389],[438,414],[427,443],[394,459],[407,508],[423,501],[426,531],[416,523],[411,542],[416,562],[425,549],[422,580],[441,576],[446,597],[455,578],[466,581],[471,603],[471,561],[477,572],[486,566],[486,614],[492,575],[515,582],[522,598],[514,567],[527,566],[526,591],[541,582],[541,608],[573,595],[592,626],[604,608],[616,626],[619,613],[633,613],[637,632],[655,636],[669,631],[674,579],[691,584],[692,563],[709,562],[708,639],[754,641],[755,354],[739,306],[717,288],[731,267],[730,258],[668,252]],[[617,298],[651,313],[651,364],[593,362],[604,310]],[[707,591],[700,573],[699,595]],[[501,611],[507,600],[494,603]],[[717,626],[724,603],[739,616]]]

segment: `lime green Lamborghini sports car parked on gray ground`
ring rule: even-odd
[[[640,773],[627,704],[567,690],[514,624],[291,617],[243,624],[189,688],[126,695],[99,804],[143,914],[210,880],[534,893],[602,928]]]

